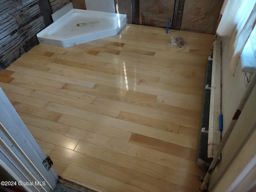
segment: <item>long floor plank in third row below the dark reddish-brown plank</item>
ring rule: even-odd
[[[189,191],[189,189],[164,180],[159,180],[152,176],[58,146],[54,148],[50,156],[148,192],[162,192],[168,190]],[[77,156],[77,158],[74,159],[72,158],[73,156]]]

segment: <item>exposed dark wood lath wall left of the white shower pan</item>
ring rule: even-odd
[[[38,0],[0,0],[0,66],[6,68],[44,26]]]

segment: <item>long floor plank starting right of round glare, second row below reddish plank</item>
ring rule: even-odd
[[[80,141],[75,151],[153,176],[161,180],[165,180],[176,185],[196,188],[199,183],[198,176],[181,172],[167,166],[162,166],[154,162],[136,158],[134,156],[88,142]]]

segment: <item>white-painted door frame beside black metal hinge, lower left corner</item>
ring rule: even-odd
[[[0,166],[28,192],[52,191],[58,175],[42,164],[45,154],[1,88],[0,102]]]

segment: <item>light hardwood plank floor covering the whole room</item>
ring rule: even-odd
[[[166,46],[171,36],[185,46]],[[213,38],[127,24],[70,48],[39,44],[0,71],[0,87],[62,178],[102,192],[195,192]]]

